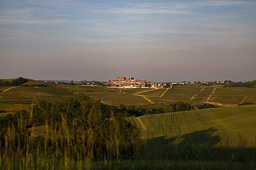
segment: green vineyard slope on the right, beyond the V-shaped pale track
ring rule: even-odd
[[[147,91],[140,95],[150,96],[150,100],[154,103],[170,103],[173,101],[187,101],[202,103],[208,102],[212,104],[234,106],[245,102],[256,103],[255,88],[222,88],[221,86],[199,86],[199,85],[183,85],[174,86],[166,91],[159,98],[164,89]]]

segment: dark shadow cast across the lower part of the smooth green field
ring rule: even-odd
[[[175,138],[150,139],[144,145],[139,158],[175,161],[256,161],[256,148],[229,145],[220,147],[220,136],[213,134],[216,129],[194,131],[177,135]]]

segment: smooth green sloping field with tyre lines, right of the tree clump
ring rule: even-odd
[[[256,106],[204,109],[127,119],[141,128],[141,159],[255,161]],[[140,119],[138,121],[138,119]]]

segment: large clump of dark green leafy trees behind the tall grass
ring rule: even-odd
[[[30,127],[39,125],[45,132],[30,137]],[[0,138],[4,154],[38,150],[45,156],[95,161],[131,159],[140,148],[137,127],[123,119],[113,106],[86,95],[55,103],[42,100],[30,111],[0,116]]]

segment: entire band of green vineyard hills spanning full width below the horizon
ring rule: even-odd
[[[40,83],[38,81],[29,81],[25,85]],[[220,106],[235,106],[245,102],[256,103],[256,89],[253,88],[222,88],[221,86],[190,84],[174,86],[166,91],[166,89],[106,89],[102,86],[47,83],[45,85],[48,86],[45,88],[17,86],[2,92],[0,93],[0,104],[29,104],[36,100],[54,101],[79,93],[88,94],[92,98],[103,101],[105,104],[117,106],[121,104],[152,106],[153,104],[169,104],[176,101],[189,103],[208,102]],[[8,88],[4,88],[4,90]],[[137,93],[139,94],[134,95]]]

